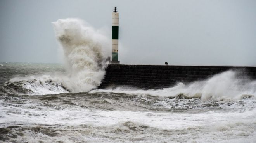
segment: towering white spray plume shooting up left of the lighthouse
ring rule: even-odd
[[[68,77],[62,78],[62,84],[72,92],[99,86],[105,74],[110,40],[81,19],[59,19],[52,24],[69,72]]]

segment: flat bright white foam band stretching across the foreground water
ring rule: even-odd
[[[188,126],[202,126],[218,124],[229,120],[232,122],[248,121],[255,122],[255,112],[248,101],[248,109],[240,111],[207,111],[202,113],[173,113],[173,112],[140,112],[140,111],[102,111],[81,108],[80,106],[66,106],[56,112],[52,106],[40,106],[33,101],[27,101],[22,106],[2,106],[0,123],[14,122],[19,120],[24,123],[37,124],[93,124],[95,126],[109,126],[124,121],[139,122],[156,128],[178,129]],[[42,101],[43,104],[44,101]],[[34,107],[34,108],[31,108]],[[236,107],[235,107],[236,108]],[[240,107],[237,107],[237,109]],[[19,114],[17,114],[18,112]],[[15,114],[12,114],[15,113]],[[216,127],[218,128],[218,127]],[[218,130],[218,129],[216,129]]]

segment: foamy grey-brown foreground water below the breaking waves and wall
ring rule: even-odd
[[[255,140],[254,98],[204,102],[200,98],[63,93],[47,96],[1,96],[0,101],[0,124],[17,136],[11,138],[14,141]],[[19,135],[21,133],[23,136]],[[8,135],[3,135],[8,138]]]

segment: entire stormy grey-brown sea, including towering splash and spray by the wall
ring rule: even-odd
[[[107,38],[80,19],[53,26],[62,64],[0,62],[0,142],[256,142],[255,80],[225,71],[169,88],[98,89]]]

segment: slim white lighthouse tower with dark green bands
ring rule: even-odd
[[[118,61],[118,12],[115,10],[112,12],[112,57],[111,64],[119,64]]]

